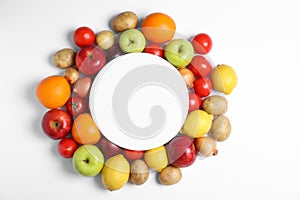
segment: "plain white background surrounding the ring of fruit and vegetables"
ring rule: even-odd
[[[299,45],[296,0],[0,0],[0,199],[289,199],[300,198]],[[183,169],[181,182],[103,189],[100,178],[77,175],[57,141],[41,131],[46,111],[35,99],[44,77],[63,71],[55,51],[72,47],[73,30],[108,29],[121,11],[140,18],[161,11],[188,37],[206,32],[215,64],[235,68],[228,97],[233,130],[219,155]]]

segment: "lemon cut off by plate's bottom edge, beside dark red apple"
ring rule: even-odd
[[[164,146],[147,150],[144,154],[144,160],[149,168],[161,171],[168,165],[167,151]]]

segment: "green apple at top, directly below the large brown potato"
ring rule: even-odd
[[[124,53],[142,52],[146,46],[143,33],[137,29],[128,29],[121,33],[119,45]]]

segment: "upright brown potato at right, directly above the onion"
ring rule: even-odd
[[[210,135],[218,142],[226,140],[231,133],[230,121],[224,115],[218,116],[213,120]]]

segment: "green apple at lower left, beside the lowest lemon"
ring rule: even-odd
[[[98,147],[91,144],[80,146],[72,158],[73,168],[84,176],[96,176],[103,168],[104,157]]]

